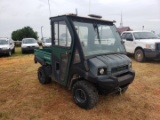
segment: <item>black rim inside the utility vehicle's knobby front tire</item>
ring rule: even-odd
[[[84,103],[87,99],[86,93],[82,89],[76,89],[75,91],[75,99],[79,103]]]

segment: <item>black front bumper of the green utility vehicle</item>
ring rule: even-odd
[[[111,76],[107,79],[98,80],[98,88],[100,91],[105,93],[114,93],[119,90],[119,88],[126,88],[134,80],[135,72],[133,70],[121,75],[121,76]]]

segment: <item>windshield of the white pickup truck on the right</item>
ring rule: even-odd
[[[134,32],[135,39],[157,39],[158,37],[152,32]]]

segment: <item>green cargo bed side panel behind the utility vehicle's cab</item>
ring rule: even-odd
[[[34,54],[44,60],[47,64],[52,64],[51,51],[52,48],[35,49]]]

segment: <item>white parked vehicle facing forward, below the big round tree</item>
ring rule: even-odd
[[[39,45],[34,38],[23,38],[21,44],[22,53],[34,52],[34,49],[38,49]]]

